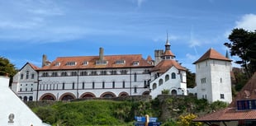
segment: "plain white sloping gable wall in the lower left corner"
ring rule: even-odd
[[[42,121],[8,87],[8,84],[8,77],[0,77],[0,125],[42,126]],[[8,123],[10,114],[14,114],[13,123]]]

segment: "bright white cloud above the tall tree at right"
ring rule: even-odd
[[[246,14],[242,16],[240,21],[236,21],[236,28],[243,28],[244,30],[254,31],[256,30],[256,15]]]

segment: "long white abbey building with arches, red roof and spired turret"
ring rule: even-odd
[[[141,54],[59,57],[42,67],[31,63],[15,75],[12,90],[22,100],[72,100],[87,97],[187,95],[186,68],[174,58],[168,40],[158,62]],[[156,56],[155,56],[156,57]],[[157,64],[156,64],[157,63]],[[32,77],[33,75],[33,77]]]

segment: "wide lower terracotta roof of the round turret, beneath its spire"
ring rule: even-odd
[[[158,63],[154,68],[151,69],[152,72],[158,71],[160,73],[167,72],[169,68],[178,68],[179,70],[186,71],[186,68],[183,68],[177,61],[175,60],[162,60],[160,63]]]

